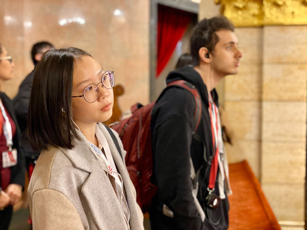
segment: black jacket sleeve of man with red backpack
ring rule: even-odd
[[[195,101],[190,93],[168,90],[153,114],[152,146],[158,196],[174,213],[174,229],[206,229],[192,197],[190,146]],[[176,96],[175,96],[176,95]],[[166,99],[167,98],[167,99]]]

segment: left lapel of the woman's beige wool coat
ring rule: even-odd
[[[122,210],[109,178],[80,131],[76,130],[76,132],[81,140],[74,140],[73,149],[61,148],[61,150],[76,168],[90,173],[81,192],[90,207],[95,223],[99,229],[123,229],[126,222],[124,216],[119,215]]]

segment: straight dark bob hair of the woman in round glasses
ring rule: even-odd
[[[82,56],[91,56],[78,48],[47,51],[37,64],[31,90],[28,132],[33,148],[49,145],[71,149],[72,135],[72,75],[74,63]]]

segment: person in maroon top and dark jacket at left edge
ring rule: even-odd
[[[12,78],[15,63],[0,44],[0,84]],[[25,159],[19,148],[20,130],[13,104],[0,92],[0,229],[8,229],[13,205],[25,185]]]

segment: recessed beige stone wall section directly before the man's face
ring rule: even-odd
[[[236,28],[243,53],[239,74],[226,76],[224,106],[234,129],[233,145],[226,144],[229,162],[247,159],[261,175],[262,28]]]

